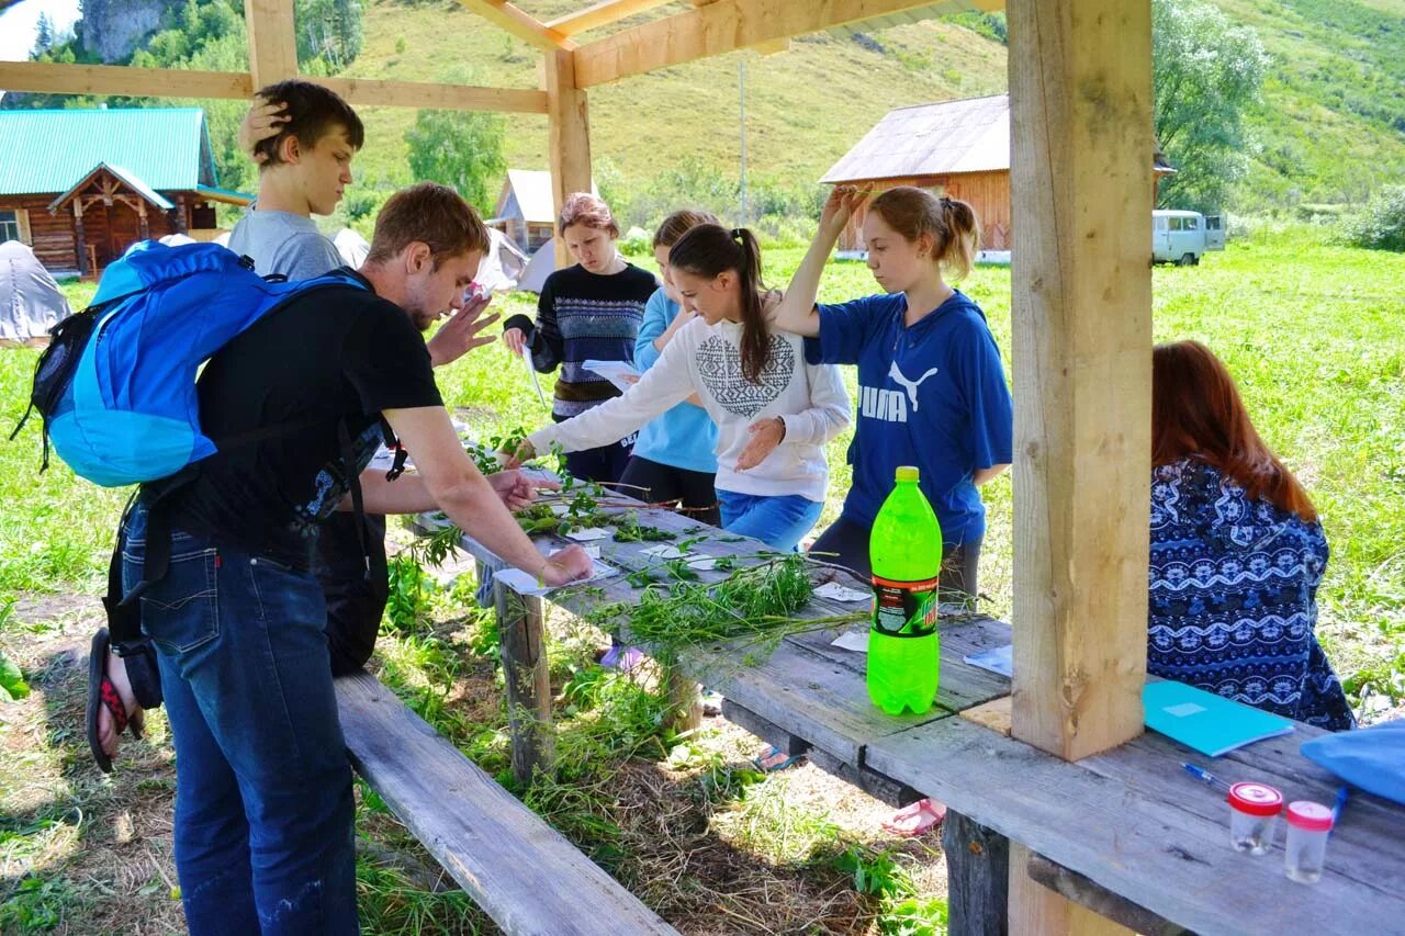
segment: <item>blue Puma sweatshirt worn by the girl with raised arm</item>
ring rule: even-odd
[[[943,540],[982,537],[985,505],[971,476],[1012,462],[1014,434],[1014,403],[985,313],[960,291],[910,327],[902,292],[816,309],[809,363],[858,365],[844,517],[871,527],[898,465],[916,465]]]

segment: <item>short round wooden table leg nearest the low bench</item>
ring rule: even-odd
[[[513,776],[531,783],[555,762],[551,725],[551,673],[541,599],[523,597],[493,583],[493,604],[502,639],[503,682],[507,684],[507,727],[513,736]]]

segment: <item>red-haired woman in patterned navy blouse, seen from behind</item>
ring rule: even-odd
[[[1146,669],[1339,731],[1356,724],[1318,644],[1328,547],[1302,485],[1198,342],[1152,351]]]

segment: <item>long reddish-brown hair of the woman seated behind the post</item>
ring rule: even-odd
[[[1316,520],[1293,472],[1259,437],[1229,371],[1200,342],[1158,344],[1151,353],[1151,461],[1203,458],[1250,498]]]

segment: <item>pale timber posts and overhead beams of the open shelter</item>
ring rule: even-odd
[[[1151,485],[1151,0],[600,0],[542,22],[459,0],[534,46],[538,89],[313,79],[351,104],[547,114],[555,205],[590,187],[589,89],[795,35],[1006,10],[1014,200],[1014,736],[1076,760],[1142,731]],[[292,0],[244,0],[247,73],[0,63],[0,87],[247,98],[298,74]],[[998,777],[991,777],[998,784]],[[979,819],[979,815],[972,818]],[[1012,843],[1010,867],[1030,852]],[[1010,876],[1012,930],[1102,932]]]

